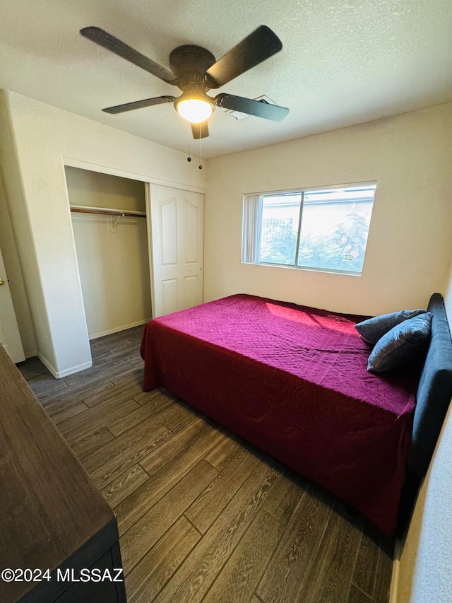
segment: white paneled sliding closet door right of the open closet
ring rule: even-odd
[[[203,301],[204,195],[150,185],[153,317]]]

